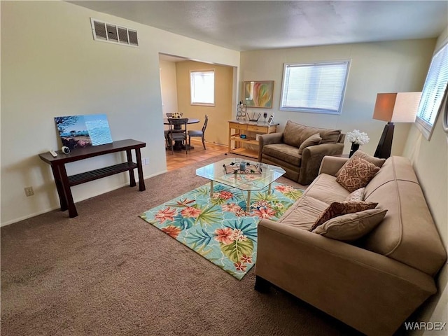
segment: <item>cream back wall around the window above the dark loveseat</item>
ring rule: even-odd
[[[290,48],[241,52],[240,87],[245,80],[274,80],[274,120],[283,130],[287,120],[315,127],[353,129],[367,132],[369,144],[361,149],[373,154],[385,123],[372,120],[377,93],[421,91],[433,54],[435,39],[327,45],[311,48]],[[351,59],[342,114],[279,111],[283,64]],[[241,97],[241,90],[239,90]],[[240,98],[239,98],[240,99]],[[265,109],[248,109],[260,111]],[[395,124],[393,155],[401,155],[409,124]],[[346,141],[344,153],[349,153]]]

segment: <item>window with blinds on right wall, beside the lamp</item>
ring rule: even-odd
[[[435,118],[442,106],[444,92],[448,83],[448,43],[445,43],[433,56],[426,75],[416,125],[426,139],[430,139],[433,132]]]

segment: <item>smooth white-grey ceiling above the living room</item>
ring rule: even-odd
[[[233,50],[437,37],[448,1],[68,1]]]

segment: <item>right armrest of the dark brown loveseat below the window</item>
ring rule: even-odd
[[[304,148],[298,183],[307,185],[318,175],[322,159],[325,155],[340,155],[344,144],[320,144]]]

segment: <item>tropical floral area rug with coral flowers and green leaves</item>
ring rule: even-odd
[[[139,217],[241,280],[255,265],[260,219],[279,219],[303,190],[273,182],[270,195],[251,193],[251,211],[246,192],[221,183],[213,191],[208,183]]]

